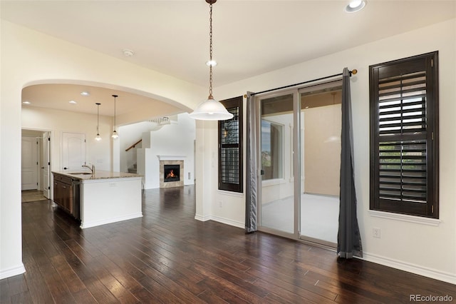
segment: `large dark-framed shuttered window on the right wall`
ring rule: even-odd
[[[369,67],[372,210],[438,218],[437,59]]]

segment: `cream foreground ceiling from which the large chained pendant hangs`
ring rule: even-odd
[[[214,87],[456,16],[456,0],[368,0],[354,14],[343,11],[346,4],[348,0],[217,1]],[[209,5],[204,0],[1,0],[1,18],[208,86]],[[125,57],[124,49],[135,55]]]

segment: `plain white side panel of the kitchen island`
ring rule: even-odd
[[[142,217],[141,178],[82,181],[81,228]]]

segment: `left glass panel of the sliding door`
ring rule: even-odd
[[[259,228],[295,233],[293,178],[294,94],[260,99]],[[281,233],[280,233],[281,232]],[[274,233],[274,232],[273,232]]]

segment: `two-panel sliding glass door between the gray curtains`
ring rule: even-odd
[[[259,230],[335,246],[341,81],[257,97]]]

